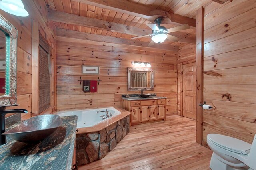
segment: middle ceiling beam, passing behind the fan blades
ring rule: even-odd
[[[120,32],[120,33],[125,33],[129,35],[134,35],[134,36],[152,34],[152,30],[140,29],[137,27],[117,24],[114,22],[108,22],[108,21],[98,20],[94,18],[88,18],[84,16],[78,16],[78,15],[69,14],[65,12],[58,12],[55,10],[48,10],[48,19],[56,22],[66,23],[66,24],[74,24],[78,26],[96,28],[100,30]],[[172,32],[169,34],[172,36],[177,36],[181,38],[180,42],[196,44],[196,38],[188,38],[185,36],[180,36],[180,32]]]

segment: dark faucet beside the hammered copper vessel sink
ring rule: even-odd
[[[0,123],[1,123],[1,136],[0,136],[0,145],[6,144],[6,136],[2,135],[5,132],[5,115],[7,113],[28,113],[26,109],[11,109],[5,110],[5,107],[0,107]]]

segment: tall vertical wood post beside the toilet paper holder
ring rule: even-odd
[[[197,10],[196,15],[196,142],[202,145],[203,140],[203,58],[204,58],[204,7]]]

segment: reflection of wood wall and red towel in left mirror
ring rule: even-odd
[[[0,96],[5,95],[6,35],[0,30]]]

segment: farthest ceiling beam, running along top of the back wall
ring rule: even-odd
[[[110,36],[101,36],[97,34],[89,34],[85,32],[78,32],[78,31],[72,31],[72,30],[64,30],[60,28],[56,28],[56,35],[57,37],[66,37],[71,39],[80,39],[84,40],[86,43],[90,42],[104,42],[108,44],[122,44],[122,45],[128,45],[128,46],[136,46],[136,47],[144,47],[148,49],[163,49],[167,51],[179,51],[178,46],[173,45],[162,45],[162,44],[154,44],[153,46],[148,47],[148,42],[141,42],[141,41],[134,41],[134,40],[127,40],[124,38],[116,38],[116,37],[110,37]]]

